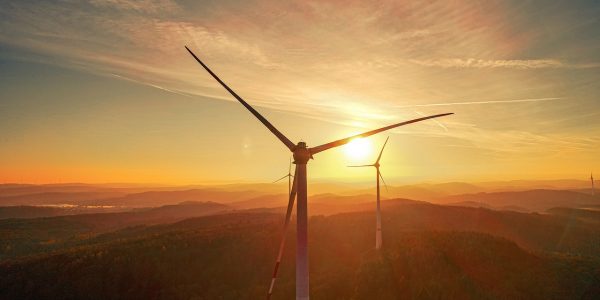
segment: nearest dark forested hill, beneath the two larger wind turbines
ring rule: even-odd
[[[408,223],[398,218],[424,207],[457,208],[388,204],[382,254],[372,250],[371,213],[310,219],[313,299],[593,299],[600,291],[593,258],[530,252],[485,233],[435,230],[427,225],[431,219],[415,222],[422,215]],[[260,299],[280,226],[281,215],[235,213],[101,235],[0,263],[0,298]],[[291,230],[274,299],[294,295],[293,237]]]

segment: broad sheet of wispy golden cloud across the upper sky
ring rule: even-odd
[[[409,117],[409,108],[435,113],[442,106],[461,106],[452,109],[462,122],[440,121],[448,133],[467,130],[460,124],[477,123],[486,128],[481,134],[493,137],[499,134],[493,121],[515,115],[502,104],[523,103],[536,118],[576,112],[582,105],[598,107],[594,93],[600,88],[594,78],[600,79],[600,58],[581,55],[598,49],[598,42],[577,40],[568,44],[569,51],[551,47],[569,36],[592,36],[593,22],[568,9],[527,5],[6,1],[0,4],[0,41],[61,58],[54,61],[66,67],[84,66],[175,93],[231,100],[190,59],[183,49],[188,45],[239,94],[263,107],[320,120],[333,115],[338,123],[367,128]],[[544,13],[556,23],[547,26],[560,29],[554,35],[530,18]],[[593,13],[589,11],[590,18]],[[555,101],[559,98],[568,101]],[[482,118],[466,101],[447,99],[513,100],[470,102],[497,104],[493,115]],[[530,133],[544,136],[544,130]],[[477,134],[456,138],[475,139]],[[497,147],[492,140],[486,147]]]

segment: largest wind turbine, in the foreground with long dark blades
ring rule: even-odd
[[[197,56],[194,54],[187,46],[186,50],[194,57],[194,59],[202,65],[202,67],[219,83],[223,88],[225,88],[236,100],[238,100],[250,113],[252,113],[271,133],[273,133],[281,143],[288,148],[289,151],[293,153],[294,156],[294,164],[295,168],[295,177],[294,183],[292,184],[292,189],[290,193],[290,198],[288,201],[288,210],[286,213],[286,221],[284,224],[284,229],[287,228],[289,224],[289,218],[291,217],[291,210],[294,204],[294,198],[298,196],[298,204],[296,207],[296,300],[308,300],[309,299],[309,289],[308,289],[308,209],[307,209],[307,183],[306,183],[306,164],[310,159],[313,158],[313,155],[323,152],[325,150],[329,150],[331,148],[339,147],[349,143],[351,140],[359,137],[368,137],[374,135],[376,133],[390,130],[392,128],[396,128],[403,125],[408,125],[416,122],[420,122],[423,120],[428,120],[437,117],[443,117],[447,115],[451,115],[453,113],[445,113],[432,115],[427,117],[422,117],[418,119],[413,119],[397,124],[392,124],[389,126],[385,126],[379,129],[363,132],[361,134],[353,135],[347,138],[343,138],[340,140],[336,140],[333,142],[329,142],[323,145],[319,145],[316,147],[309,148],[306,146],[305,142],[299,142],[298,144],[292,143],[285,135],[283,135],[275,126],[273,126],[267,119],[265,119],[260,113],[258,113],[250,104],[248,104],[244,99],[242,99],[238,94],[236,94],[229,86],[227,86],[213,71],[211,71]],[[302,126],[302,124],[299,124]],[[284,235],[285,237],[285,235]],[[283,244],[283,242],[282,242]],[[281,253],[282,247],[280,247]],[[279,262],[280,260],[278,260]],[[276,264],[274,277],[277,274],[277,268],[279,263]],[[271,288],[272,289],[271,284]],[[270,295],[270,294],[269,294]]]

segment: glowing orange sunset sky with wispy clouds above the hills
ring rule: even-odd
[[[0,2],[0,182],[388,184],[600,177],[597,1]]]

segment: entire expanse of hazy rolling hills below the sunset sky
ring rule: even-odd
[[[66,199],[74,207],[0,208],[0,217],[13,216],[0,220],[0,299],[262,298],[287,195],[281,186],[261,187],[2,185],[1,201]],[[372,188],[310,198],[314,299],[593,299],[600,292],[597,197],[462,183],[391,189],[384,196],[409,192],[441,204],[382,201],[381,253],[373,251]],[[82,214],[98,205],[129,211]],[[294,234],[274,299],[294,294]]]

